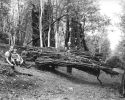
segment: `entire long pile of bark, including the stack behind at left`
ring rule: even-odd
[[[50,66],[64,66],[77,68],[88,73],[95,72],[97,70],[103,70],[107,74],[118,75],[119,73],[112,71],[112,67],[108,64],[100,61],[101,55],[92,55],[90,52],[82,50],[70,50],[66,52],[60,52],[55,48],[38,48],[28,47],[25,49],[25,59],[28,61],[34,61],[38,68],[50,67]]]

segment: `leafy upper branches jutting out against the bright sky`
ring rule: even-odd
[[[110,24],[110,20],[100,14],[98,4],[95,0],[75,0],[73,7],[75,8],[72,15],[76,15],[82,23],[85,21],[84,30],[86,33],[94,33],[96,30],[99,31]]]

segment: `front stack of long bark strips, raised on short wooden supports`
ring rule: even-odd
[[[42,51],[39,57],[35,60],[37,66],[70,66],[74,68],[93,68],[100,69],[106,72],[111,68],[106,66],[105,63],[97,61],[95,57],[89,52],[84,51],[67,51],[67,52],[48,52]],[[109,71],[109,73],[114,74]]]

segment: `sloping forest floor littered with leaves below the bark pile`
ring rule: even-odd
[[[73,69],[72,74],[67,74],[62,67],[49,72],[37,70],[33,64],[27,69],[33,76],[10,76],[6,73],[11,69],[2,62],[0,100],[125,100],[119,94],[120,75],[111,77],[101,72],[101,86],[96,77],[77,69]]]

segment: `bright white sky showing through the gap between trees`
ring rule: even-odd
[[[120,15],[122,7],[120,0],[100,0],[101,13],[110,17],[111,24],[108,27],[108,38],[110,40],[111,50],[114,51],[121,40],[121,31],[119,29]]]

